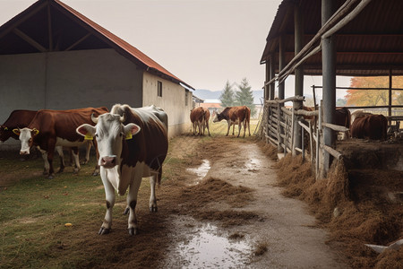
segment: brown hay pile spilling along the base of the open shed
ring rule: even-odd
[[[339,161],[330,168],[328,178],[315,180],[311,164],[291,154],[276,169],[283,195],[310,205],[318,225],[330,230],[330,243],[353,268],[402,268],[403,247],[378,255],[364,244],[388,246],[403,238],[403,206],[387,201],[379,187],[402,191],[403,173],[394,171],[393,178],[382,178],[382,172],[372,171],[354,177]]]

